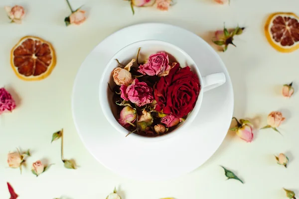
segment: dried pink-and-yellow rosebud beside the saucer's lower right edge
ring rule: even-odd
[[[240,119],[240,122],[236,117],[233,117],[237,121],[237,127],[231,128],[230,130],[236,131],[236,134],[246,142],[253,140],[253,125],[248,120]]]

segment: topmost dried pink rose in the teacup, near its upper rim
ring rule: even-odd
[[[163,76],[163,73],[169,72],[171,67],[169,64],[168,55],[164,52],[159,52],[149,56],[146,64],[140,65],[138,72],[149,76]]]

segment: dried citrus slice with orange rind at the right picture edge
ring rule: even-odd
[[[299,17],[292,12],[271,14],[265,24],[268,42],[279,52],[293,52],[299,49]]]

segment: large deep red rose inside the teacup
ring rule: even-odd
[[[154,86],[155,109],[176,117],[187,115],[195,106],[200,91],[199,79],[190,67],[176,64]]]

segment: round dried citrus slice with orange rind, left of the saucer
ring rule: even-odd
[[[11,49],[10,65],[22,80],[42,80],[51,74],[56,65],[54,48],[41,38],[25,36]]]

